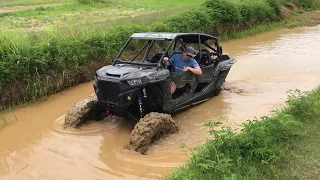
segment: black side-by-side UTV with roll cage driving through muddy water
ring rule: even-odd
[[[202,69],[200,76],[190,71],[177,73],[174,65],[164,65],[164,57],[183,53],[187,46],[197,51],[194,59]],[[103,116],[125,117],[138,124],[142,119],[147,119],[143,121],[152,124],[150,118],[157,117],[155,113],[150,115],[151,112],[161,116],[173,114],[218,95],[234,63],[234,59],[223,54],[218,39],[211,35],[135,33],[125,43],[112,65],[96,71],[93,86],[97,100],[91,109],[99,111]],[[172,82],[183,85],[174,94],[170,91]],[[86,113],[89,111],[92,110],[87,108]],[[66,122],[67,119],[68,115]],[[80,119],[76,122],[80,122]]]

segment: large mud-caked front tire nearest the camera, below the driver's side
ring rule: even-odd
[[[131,132],[129,147],[141,154],[145,154],[155,140],[178,130],[178,126],[171,115],[151,112],[141,118],[135,125]]]

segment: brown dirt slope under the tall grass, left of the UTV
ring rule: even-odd
[[[0,111],[8,107],[5,105],[20,105],[43,96],[42,99],[46,99],[48,95],[91,81],[97,69],[109,64],[107,61],[93,61],[89,66],[72,72],[48,72],[42,76],[35,75],[29,81],[17,81],[10,86],[0,86]],[[39,86],[45,90],[39,91]]]

